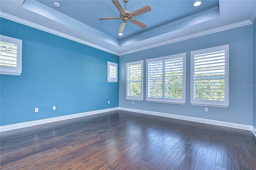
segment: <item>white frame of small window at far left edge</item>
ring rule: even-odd
[[[22,40],[0,35],[0,41],[17,45],[17,67],[0,65],[0,74],[20,75],[22,73]]]

